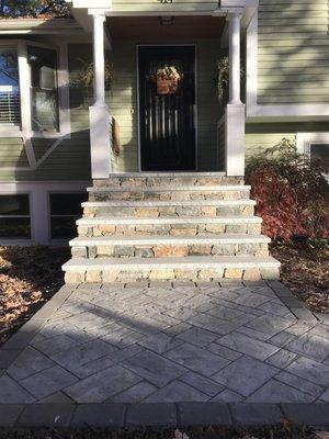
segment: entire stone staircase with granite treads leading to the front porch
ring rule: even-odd
[[[220,173],[95,180],[70,241],[67,283],[279,277],[250,188]]]

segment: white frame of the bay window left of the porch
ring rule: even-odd
[[[27,47],[43,47],[57,53],[57,91],[58,91],[58,131],[38,132],[31,127],[31,97],[30,97],[30,66],[27,63]],[[70,105],[69,105],[69,74],[67,43],[49,45],[26,40],[7,40],[0,42],[0,48],[8,47],[18,50],[19,86],[21,99],[21,126],[0,126],[0,136],[24,138],[57,138],[70,135]]]

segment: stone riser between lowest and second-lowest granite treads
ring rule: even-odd
[[[268,257],[266,243],[248,244],[158,244],[75,246],[72,258],[167,258],[186,256],[256,256]]]

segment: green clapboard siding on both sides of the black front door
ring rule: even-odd
[[[178,43],[179,44],[179,43]],[[196,43],[198,170],[218,170],[216,125],[220,106],[216,94],[216,64],[223,55],[217,40]],[[114,80],[109,97],[111,114],[121,132],[122,151],[116,171],[138,170],[137,42],[114,41]]]

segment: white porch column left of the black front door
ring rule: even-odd
[[[110,114],[105,102],[104,11],[93,10],[94,103],[89,108],[91,177],[107,178],[111,172]]]

